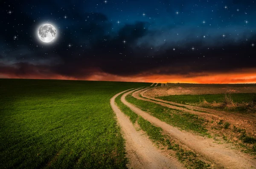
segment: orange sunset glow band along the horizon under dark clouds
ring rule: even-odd
[[[188,75],[168,75],[141,73],[134,76],[119,76],[104,72],[96,72],[88,77],[71,77],[59,74],[0,74],[1,78],[27,79],[58,79],[58,80],[97,80],[97,81],[126,81],[152,83],[256,83],[256,69],[247,69],[228,73],[194,73]]]

